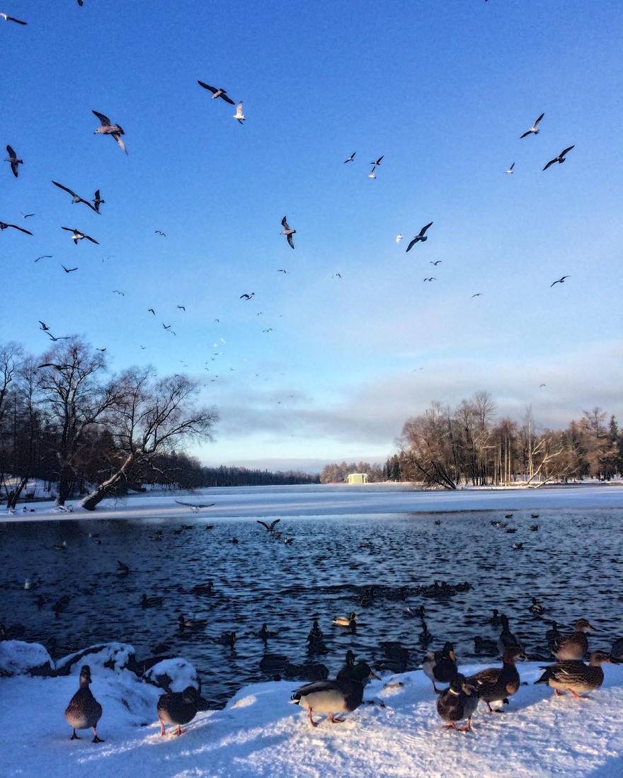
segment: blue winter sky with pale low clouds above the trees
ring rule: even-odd
[[[618,0],[2,10],[28,26],[0,19],[0,142],[24,160],[18,180],[0,167],[0,219],[34,237],[0,233],[0,339],[40,353],[42,319],[113,370],[201,377],[222,415],[207,463],[383,460],[408,415],[481,389],[541,426],[623,415]],[[52,179],[99,187],[102,215]]]

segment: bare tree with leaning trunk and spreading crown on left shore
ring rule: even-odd
[[[117,445],[116,466],[82,507],[95,507],[124,482],[139,481],[145,471],[158,470],[158,454],[189,439],[211,438],[218,420],[214,408],[197,408],[198,382],[175,375],[153,380],[152,368],[131,369],[121,376],[121,392],[110,413],[110,429]],[[165,471],[163,482],[174,480]]]

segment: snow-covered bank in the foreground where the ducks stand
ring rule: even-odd
[[[532,685],[541,671],[525,663],[520,672],[529,685],[502,715],[487,713],[481,703],[467,734],[440,727],[430,682],[413,671],[372,682],[366,699],[383,699],[386,707],[363,705],[345,724],[323,718],[312,729],[306,712],[289,703],[298,684],[268,682],[241,689],[225,710],[198,713],[182,737],[162,738],[160,690],[127,670],[88,661],[105,742],[94,745],[86,731],[69,740],[63,714],[82,661],[67,677],[0,678],[2,776],[623,775],[623,666],[605,665],[602,689],[579,702]],[[205,679],[204,692],[208,684]]]

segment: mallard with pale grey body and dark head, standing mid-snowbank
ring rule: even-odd
[[[346,668],[345,668],[346,669]],[[365,662],[358,662],[341,674],[335,681],[317,681],[296,689],[292,702],[307,709],[310,724],[318,726],[312,713],[327,713],[331,724],[340,724],[344,719],[336,718],[336,713],[352,713],[363,700],[363,685],[367,678],[379,678]]]

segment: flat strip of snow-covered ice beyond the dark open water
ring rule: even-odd
[[[58,513],[54,503],[18,506],[14,515],[0,514],[0,521],[79,517],[189,518],[191,509],[175,502],[215,503],[198,515],[207,518],[266,516],[334,516],[346,513],[429,513],[459,510],[557,510],[623,508],[623,485],[568,485],[542,489],[460,489],[413,491],[404,485],[289,486],[201,489],[192,495],[134,495],[105,499],[95,511],[83,510],[78,501],[68,503],[73,513]]]

